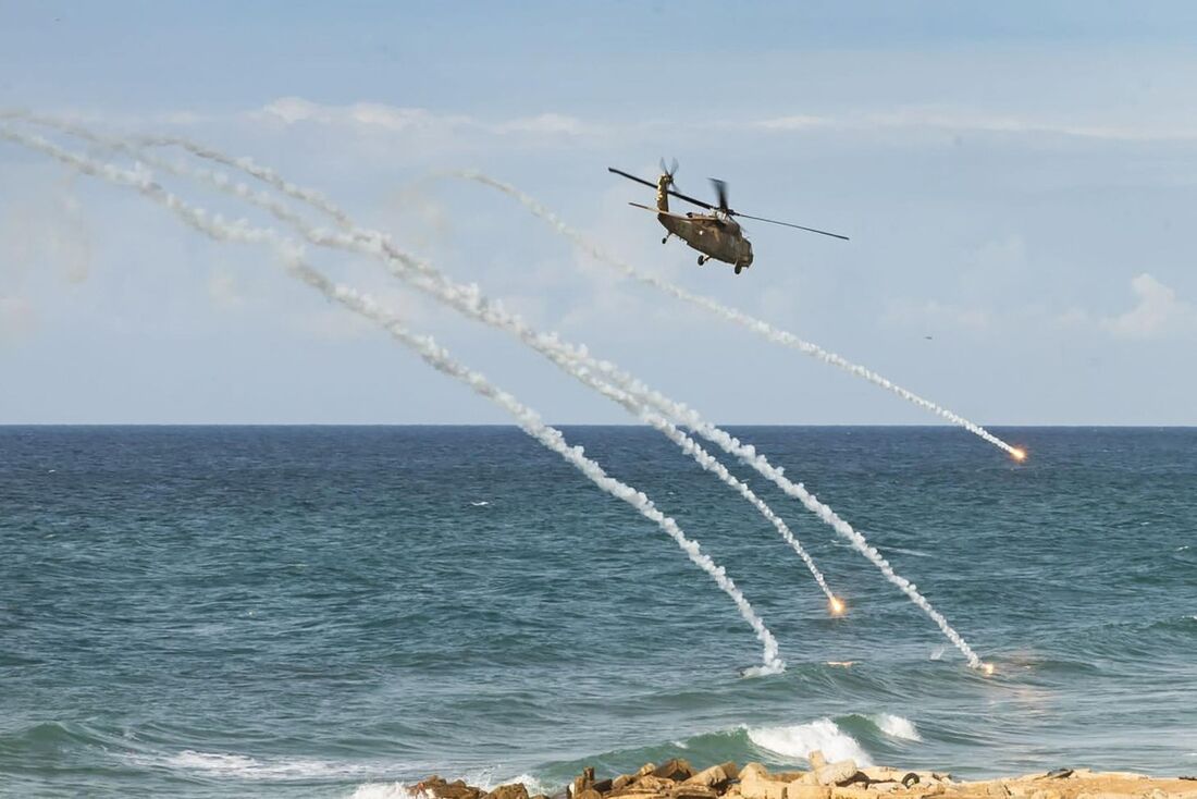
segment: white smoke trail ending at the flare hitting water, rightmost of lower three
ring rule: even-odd
[[[193,145],[192,152],[203,152],[205,147],[200,145]],[[248,159],[238,158],[232,159],[227,156],[221,156],[220,163],[233,163],[239,164]],[[259,172],[274,175],[277,182],[272,182],[277,188],[284,190],[284,193],[291,194],[293,184],[282,181],[272,170],[266,170],[265,168],[257,168]],[[254,174],[254,172],[251,172]],[[266,180],[266,178],[263,178]],[[230,188],[239,196],[244,199],[250,199],[253,201],[253,193],[243,189],[239,186],[231,186],[225,183],[226,188]],[[296,199],[304,199],[304,195],[309,193],[308,189],[299,189],[299,193],[291,194]],[[271,205],[265,205],[268,210],[272,210]],[[294,219],[294,214],[287,214],[287,220]],[[346,216],[347,218],[347,216]],[[300,228],[304,228],[300,223]],[[596,361],[589,356],[585,347],[575,347],[567,343],[559,341],[555,334],[540,334],[531,331],[518,316],[512,316],[506,314],[498,302],[487,299],[481,295],[478,285],[460,286],[452,284],[446,277],[440,272],[435,270],[432,266],[415,259],[412,255],[403,253],[390,243],[390,240],[384,234],[377,231],[365,231],[359,229],[352,229],[350,234],[338,235],[338,234],[326,234],[324,231],[305,229],[304,232],[309,241],[317,244],[335,246],[335,247],[351,247],[358,252],[369,253],[373,255],[382,255],[384,258],[384,264],[393,274],[400,277],[401,279],[408,280],[426,291],[430,291],[435,296],[443,297],[446,302],[452,304],[455,308],[470,314],[475,319],[486,321],[503,329],[515,333],[530,346],[535,347],[537,351],[542,352],[549,357],[554,363],[561,365],[569,374],[582,379],[588,385],[603,391],[609,397],[621,401],[626,407],[633,410],[633,412],[640,413],[642,418],[645,418],[650,424],[654,423],[654,414],[646,414],[644,411],[643,402],[638,402],[634,406],[627,405],[625,400],[618,399],[616,394],[610,393],[609,383],[604,388],[601,383],[596,385],[587,380],[584,375],[589,375],[590,369],[596,369],[601,371],[610,382],[618,383],[627,394],[640,398],[642,400],[651,404],[658,410],[664,411],[667,414],[672,416],[674,419],[681,420],[694,429],[699,435],[717,443],[725,452],[739,456],[746,464],[755,468],[762,476],[767,477],[774,484],[778,485],[788,496],[798,500],[803,507],[819,516],[825,523],[832,527],[832,529],[845,538],[857,551],[859,551],[865,558],[868,558],[886,579],[897,586],[899,591],[906,594],[916,606],[918,606],[926,616],[935,622],[944,636],[965,655],[970,667],[972,668],[986,668],[988,666],[980,661],[977,654],[972,650],[968,643],[948,624],[947,619],[940,613],[935,607],[923,597],[918,591],[917,586],[901,575],[893,570],[893,567],[881,553],[873,547],[863,534],[857,532],[846,521],[839,517],[834,510],[828,506],[820,502],[814,495],[806,490],[801,483],[792,483],[785,478],[783,470],[773,467],[764,455],[755,452],[755,448],[751,444],[742,444],[737,438],[728,435],[723,430],[719,430],[715,425],[705,422],[701,416],[697,413],[693,408],[687,407],[685,404],[675,402],[669,398],[664,397],[660,392],[651,391],[639,380],[632,377],[631,375],[620,371],[610,362]],[[411,271],[419,273],[419,278],[411,274]],[[425,279],[426,278],[426,279]],[[436,285],[430,286],[429,280],[432,280]],[[438,290],[443,289],[443,291]],[[658,429],[662,429],[658,426]],[[664,430],[662,430],[664,431]],[[679,431],[680,434],[680,431]],[[667,432],[667,435],[669,435]],[[685,435],[685,434],[680,434]],[[670,436],[673,437],[673,436]],[[675,442],[678,440],[675,438]],[[693,442],[691,442],[693,444]],[[693,444],[698,452],[701,452],[697,444]],[[685,449],[685,447],[683,447]],[[691,452],[693,455],[693,452]],[[703,453],[705,455],[705,453]],[[704,461],[698,459],[700,464]],[[704,465],[704,467],[706,467]],[[727,482],[727,480],[724,480]],[[729,483],[730,484],[730,483]],[[768,517],[768,516],[766,516]],[[780,528],[779,528],[780,531]],[[783,534],[783,537],[785,537]],[[819,581],[820,587],[831,598],[831,593],[826,587],[825,581],[821,579],[820,573],[815,568],[813,561],[804,553],[801,545],[797,544],[796,539],[792,537],[786,538],[788,543],[795,549],[795,551],[803,558],[807,563],[808,569],[815,575],[816,581]]]

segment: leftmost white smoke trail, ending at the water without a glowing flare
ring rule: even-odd
[[[116,186],[135,189],[158,205],[174,211],[186,224],[217,241],[266,243],[273,247],[290,274],[316,289],[327,298],[384,327],[396,340],[408,349],[414,350],[433,369],[456,377],[468,385],[476,394],[499,405],[511,414],[524,432],[549,450],[559,454],[600,489],[613,497],[622,500],[636,508],[640,515],[656,522],[686,552],[687,557],[710,575],[719,588],[731,598],[741,617],[753,628],[764,650],[761,654],[762,665],[749,670],[749,673],[778,673],[785,668],[785,664],[778,656],[777,640],[773,637],[773,634],[765,627],[765,622],[757,615],[740,588],[727,575],[723,567],[717,565],[709,555],[703,552],[698,541],[687,538],[681,527],[670,516],[658,510],[646,495],[608,476],[597,462],[585,456],[582,447],[571,447],[561,432],[545,424],[535,411],[521,404],[514,395],[492,385],[480,373],[454,361],[449,356],[448,350],[437,345],[431,337],[418,335],[407,331],[396,316],[378,307],[369,296],[361,295],[347,286],[335,284],[323,273],[309,266],[303,261],[302,248],[298,248],[293,242],[280,237],[271,229],[250,228],[243,223],[229,223],[219,214],[209,214],[203,208],[189,205],[174,194],[165,192],[144,170],[126,170],[113,164],[97,162],[86,156],[59,147],[42,137],[26,135],[7,127],[0,127],[0,138],[43,152],[86,175],[103,178]]]

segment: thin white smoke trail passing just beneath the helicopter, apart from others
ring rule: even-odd
[[[1007,453],[1009,453],[1017,460],[1022,460],[1026,456],[1026,454],[1021,449],[1011,447],[1010,444],[1005,443],[1004,441],[991,434],[989,430],[980,426],[979,424],[970,422],[959,413],[954,413],[953,411],[949,411],[946,407],[936,405],[931,400],[923,399],[918,394],[907,391],[901,386],[898,386],[897,383],[886,377],[882,377],[871,369],[867,369],[865,367],[855,364],[851,361],[847,361],[846,358],[836,355],[834,352],[828,352],[827,350],[824,350],[821,346],[816,344],[812,344],[810,341],[804,341],[798,337],[794,335],[792,333],[778,329],[777,327],[773,327],[772,325],[770,325],[764,320],[757,319],[755,316],[749,316],[748,314],[741,310],[731,308],[730,305],[724,305],[717,299],[692,293],[676,284],[669,283],[668,280],[663,280],[656,276],[640,272],[634,266],[625,261],[621,261],[614,258],[613,255],[608,255],[597,244],[595,244],[593,241],[583,236],[581,231],[570,228],[555,213],[549,211],[547,207],[537,202],[528,194],[524,194],[523,192],[517,189],[515,186],[511,186],[510,183],[504,183],[503,181],[498,181],[488,175],[478,171],[467,170],[467,171],[457,171],[449,174],[452,177],[460,177],[463,180],[469,180],[476,183],[481,183],[482,186],[490,186],[491,188],[498,189],[499,192],[516,199],[521,205],[531,211],[533,214],[547,222],[559,234],[561,234],[563,236],[572,241],[577,247],[590,254],[591,258],[603,264],[607,264],[608,266],[615,267],[616,270],[622,272],[626,277],[630,277],[633,280],[639,280],[640,283],[650,285],[654,289],[664,291],[666,293],[669,293],[676,297],[678,299],[698,305],[699,308],[705,308],[706,310],[718,316],[722,316],[723,319],[730,322],[735,322],[736,325],[747,327],[752,332],[765,337],[770,341],[780,344],[783,346],[792,347],[795,350],[798,350],[800,352],[818,358],[824,363],[830,363],[833,367],[839,367],[840,369],[850,374],[853,374],[857,377],[863,377],[864,380],[868,380],[870,383],[880,386],[881,388],[885,388],[888,392],[893,392],[904,400],[913,402],[915,405],[925,408],[931,413],[935,413],[936,416],[947,419],[948,422],[952,422],[953,424],[960,425],[961,428],[968,430],[973,435],[980,436],[982,438],[994,444],[995,447],[1004,449]]]

